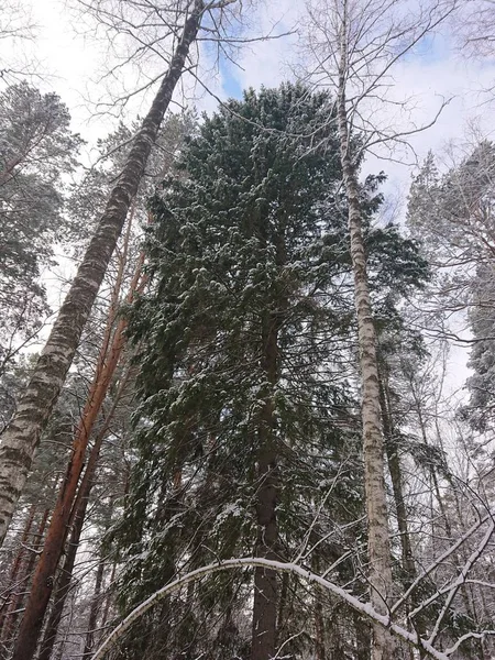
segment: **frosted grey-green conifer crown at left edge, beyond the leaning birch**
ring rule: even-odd
[[[56,94],[28,82],[0,94],[0,373],[47,312],[40,271],[66,240],[63,177],[81,140]]]

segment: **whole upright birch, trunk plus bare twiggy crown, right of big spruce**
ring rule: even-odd
[[[336,90],[340,158],[349,205],[349,239],[354,273],[362,378],[363,452],[369,525],[371,603],[385,614],[394,595],[388,512],[384,482],[384,439],[380,407],[376,330],[373,321],[362,202],[356,164],[378,145],[405,140],[398,130],[380,127],[369,118],[391,84],[391,69],[444,16],[440,2],[408,11],[400,0],[324,0],[308,4],[307,42],[310,78]],[[378,106],[380,109],[380,106]],[[375,116],[376,116],[375,108]],[[353,150],[355,129],[363,134],[361,148]],[[417,130],[417,129],[415,129]],[[406,131],[406,133],[410,132]],[[373,659],[396,657],[394,638],[374,627]]]

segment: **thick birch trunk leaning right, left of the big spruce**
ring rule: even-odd
[[[119,180],[110,194],[107,208],[82,263],[61,307],[50,338],[18,410],[0,443],[0,543],[3,542],[18,499],[31,468],[40,436],[55,406],[92,304],[122,232],[172,95],[186,65],[191,43],[196,40],[205,9],[195,0],[184,24],[180,41],[162,80],[151,110],[138,131]],[[18,658],[31,658],[28,654]]]

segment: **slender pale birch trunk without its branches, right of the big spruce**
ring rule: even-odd
[[[354,273],[354,298],[358,320],[360,366],[362,381],[364,487],[367,514],[367,546],[370,557],[371,604],[387,613],[393,598],[391,542],[388,536],[387,501],[384,479],[384,442],[380,409],[378,360],[376,331],[367,284],[366,255],[362,232],[360,189],[351,154],[345,86],[348,70],[348,3],[344,3],[341,25],[338,129],[340,160],[349,206],[349,234]],[[373,630],[373,660],[394,660],[396,644],[382,626]]]

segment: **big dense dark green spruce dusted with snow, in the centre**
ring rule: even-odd
[[[351,542],[340,524],[364,535],[351,260],[330,100],[285,85],[230,101],[204,118],[179,175],[152,202],[152,289],[131,315],[141,351],[136,463],[116,532],[124,609],[211,556],[289,559],[308,546],[306,561],[329,565]],[[308,133],[324,148],[308,148]],[[392,289],[407,290],[425,264],[395,228],[372,229],[376,184],[370,177],[360,195],[385,317]],[[327,535],[334,540],[323,543]],[[339,573],[355,580],[345,562]],[[251,658],[266,660],[285,645],[304,657],[314,644],[301,625],[309,604],[289,582],[255,571],[251,639],[252,585],[216,576],[150,613],[129,652],[246,658],[251,647]],[[366,585],[358,579],[355,588]]]

